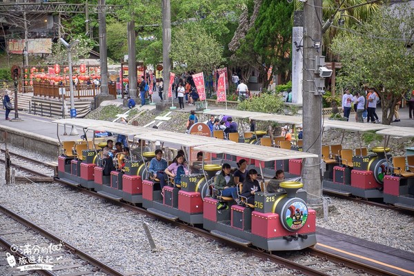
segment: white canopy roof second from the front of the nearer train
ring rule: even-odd
[[[200,146],[206,144],[235,144],[233,141],[217,139],[213,137],[205,137],[199,135],[189,135],[179,132],[159,131],[159,132],[141,132],[135,135],[136,139],[144,139],[147,141],[160,141],[163,143],[171,143],[179,146]]]

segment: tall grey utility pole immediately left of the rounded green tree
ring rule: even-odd
[[[171,2],[162,0],[162,66],[164,79],[164,99],[170,89],[171,50]]]

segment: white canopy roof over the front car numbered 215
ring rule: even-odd
[[[205,146],[196,146],[195,150],[212,153],[226,153],[244,158],[253,158],[259,161],[273,161],[286,159],[302,159],[318,157],[313,153],[300,152],[296,150],[285,150],[282,148],[273,148],[253,144],[213,144]]]

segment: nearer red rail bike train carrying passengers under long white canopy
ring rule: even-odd
[[[213,235],[244,246],[273,251],[300,250],[316,244],[316,214],[306,204],[302,183],[284,181],[279,184],[277,193],[268,193],[266,183],[262,181],[262,192],[256,193],[254,206],[249,206],[246,202],[237,204],[233,199],[215,193],[214,178],[221,171],[221,164],[226,163],[226,157],[231,160],[250,159],[252,166],[257,165],[264,175],[264,164],[275,166],[277,161],[302,161],[304,158],[317,158],[317,155],[107,121],[61,119],[55,123],[58,124],[58,137],[59,127],[63,124],[82,128],[84,132],[85,141],[61,141],[58,177],[68,184],[95,190],[111,199],[140,204],[159,217],[202,225]],[[135,150],[140,153],[140,158],[132,155],[122,170],[105,172],[108,160],[101,157],[99,148],[106,143],[96,143],[94,137],[88,141],[90,132],[98,130],[159,141],[161,148],[181,147],[189,162],[197,152],[203,152],[201,170],[182,175],[179,184],[169,181],[161,190],[159,181],[151,179],[148,174],[148,164],[155,152]],[[115,163],[121,162],[118,157],[114,159]],[[297,166],[299,170],[302,162]],[[237,191],[240,193],[241,187],[238,186]]]

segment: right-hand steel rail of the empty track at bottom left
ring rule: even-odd
[[[48,230],[45,230],[41,228],[40,226],[37,226],[37,224],[34,224],[32,221],[29,221],[28,219],[21,217],[20,215],[17,215],[17,213],[14,213],[12,210],[9,210],[8,208],[0,205],[0,211],[1,213],[4,213],[14,219],[15,221],[18,221],[20,224],[23,224],[27,226],[28,228],[32,228],[38,233],[41,233],[43,237],[46,237],[54,242],[61,242],[63,246],[65,246],[68,250],[70,250],[71,253],[74,255],[79,256],[81,259],[85,260],[86,262],[92,264],[92,266],[96,266],[99,268],[103,273],[107,273],[108,275],[114,275],[114,276],[125,276],[123,273],[119,272],[115,268],[112,268],[108,266],[107,264],[104,264],[103,262],[99,261],[95,257],[92,257],[88,255],[88,253],[83,252],[76,246],[64,241],[63,239],[57,237],[56,235],[50,233]]]

